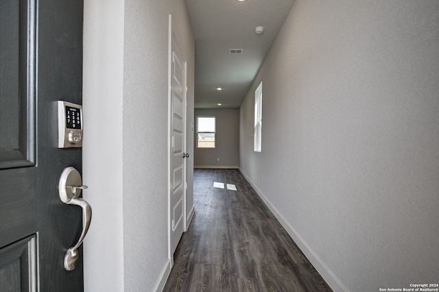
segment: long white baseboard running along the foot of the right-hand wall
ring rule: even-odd
[[[261,192],[261,190],[259,190],[256,184],[254,184],[252,180],[250,180],[248,175],[246,175],[246,173],[242,169],[239,169],[239,171],[242,173],[242,175],[244,175],[244,178],[246,178],[246,180],[250,183],[252,188],[254,188],[254,191],[256,191],[259,197],[261,197],[263,202],[272,211],[276,219],[278,219],[278,221],[281,222],[283,228],[287,230],[289,236],[291,236],[293,241],[298,245],[298,247],[303,252],[303,254],[305,254],[305,256],[308,258],[311,264],[320,273],[320,276],[322,276],[322,278],[329,284],[331,289],[333,289],[333,291],[348,291],[348,289],[344,287],[344,284],[342,284],[342,281],[340,281],[340,279],[338,279],[337,276],[335,276],[335,274],[331,271],[331,269],[329,269],[329,267],[325,265],[325,263],[323,263],[320,257],[315,252],[313,252],[311,247],[309,247],[309,245],[302,239],[302,237],[296,232],[296,230],[294,230],[294,228],[291,225],[289,225],[289,223],[285,220],[285,218],[281,215],[281,213],[278,212],[278,210],[272,205],[270,200],[267,197],[265,197],[265,195],[263,195],[263,193]]]

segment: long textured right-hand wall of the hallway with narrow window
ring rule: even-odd
[[[241,171],[335,291],[438,282],[438,14],[296,0],[241,106]]]

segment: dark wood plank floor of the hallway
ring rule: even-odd
[[[163,291],[332,291],[237,169],[193,180],[195,215]]]

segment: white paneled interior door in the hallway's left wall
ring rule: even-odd
[[[174,31],[171,32],[171,254],[185,231],[186,192],[186,62]]]

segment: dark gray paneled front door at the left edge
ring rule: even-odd
[[[83,291],[80,262],[63,259],[82,228],[60,201],[57,100],[82,104],[82,0],[0,1],[0,291]]]

